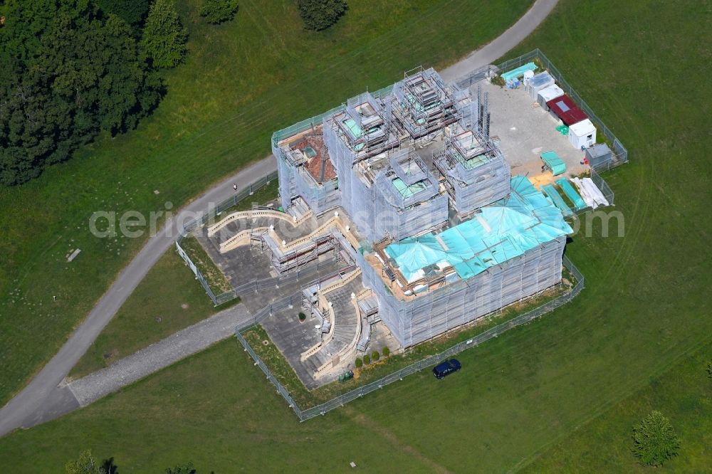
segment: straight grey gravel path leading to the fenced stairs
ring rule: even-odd
[[[236,326],[251,322],[251,319],[252,315],[240,303],[120,359],[105,369],[72,381],[68,388],[80,406],[87,406],[122,386],[132,384],[221,339],[231,337],[235,334]]]

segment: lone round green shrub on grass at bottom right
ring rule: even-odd
[[[680,440],[670,421],[659,411],[651,411],[633,428],[633,453],[642,465],[662,465],[680,449]]]

